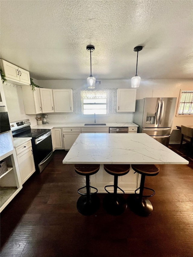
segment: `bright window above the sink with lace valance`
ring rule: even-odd
[[[107,115],[107,93],[94,91],[83,96],[83,115]]]

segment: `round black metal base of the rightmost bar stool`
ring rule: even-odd
[[[153,211],[151,202],[145,198],[142,198],[142,201],[140,201],[139,196],[136,194],[128,197],[128,206],[132,212],[142,217],[149,216]]]

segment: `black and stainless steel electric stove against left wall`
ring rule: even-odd
[[[42,172],[53,157],[51,129],[32,129],[30,120],[10,123],[13,137],[32,137],[36,171]]]

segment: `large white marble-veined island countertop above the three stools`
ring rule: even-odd
[[[63,164],[188,164],[145,133],[82,133]]]

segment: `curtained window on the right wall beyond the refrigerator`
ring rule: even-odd
[[[181,91],[178,115],[193,115],[193,91]]]

